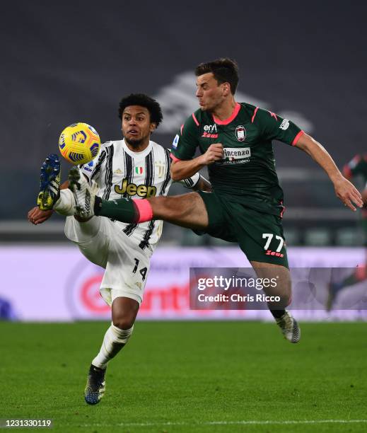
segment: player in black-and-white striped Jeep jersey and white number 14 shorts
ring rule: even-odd
[[[88,260],[105,268],[100,294],[112,307],[112,324],[89,369],[85,390],[88,404],[96,404],[102,398],[107,362],[132,335],[163,221],[127,224],[100,217],[74,217],[74,207],[80,205],[79,189],[88,180],[101,200],[112,200],[114,205],[113,200],[122,197],[163,197],[173,182],[170,151],[150,139],[163,118],[158,102],[143,94],[129,95],[120,102],[119,116],[124,139],[103,144],[91,163],[71,169],[69,181],[62,189],[59,158],[50,155],[46,159],[38,197],[41,209],[35,207],[28,213],[33,224],[45,221],[54,211],[66,215],[66,236]],[[211,190],[199,173],[185,178],[183,183],[194,190]]]

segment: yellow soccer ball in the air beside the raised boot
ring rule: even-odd
[[[86,164],[97,156],[100,150],[100,136],[91,125],[73,123],[61,133],[59,149],[66,161],[74,166]]]

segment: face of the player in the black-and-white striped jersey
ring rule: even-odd
[[[122,134],[127,144],[137,147],[149,141],[149,137],[156,125],[151,122],[151,115],[147,108],[140,105],[130,105],[122,113]]]

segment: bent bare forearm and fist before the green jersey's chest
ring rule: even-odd
[[[223,146],[221,143],[211,144],[205,154],[189,161],[173,161],[170,166],[170,177],[177,182],[185,178],[190,178],[201,168],[208,166],[215,161],[223,158]]]

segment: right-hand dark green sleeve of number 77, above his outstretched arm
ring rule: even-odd
[[[304,132],[289,119],[274,112],[255,108],[251,122],[260,130],[260,136],[267,140],[279,140],[295,146]]]

